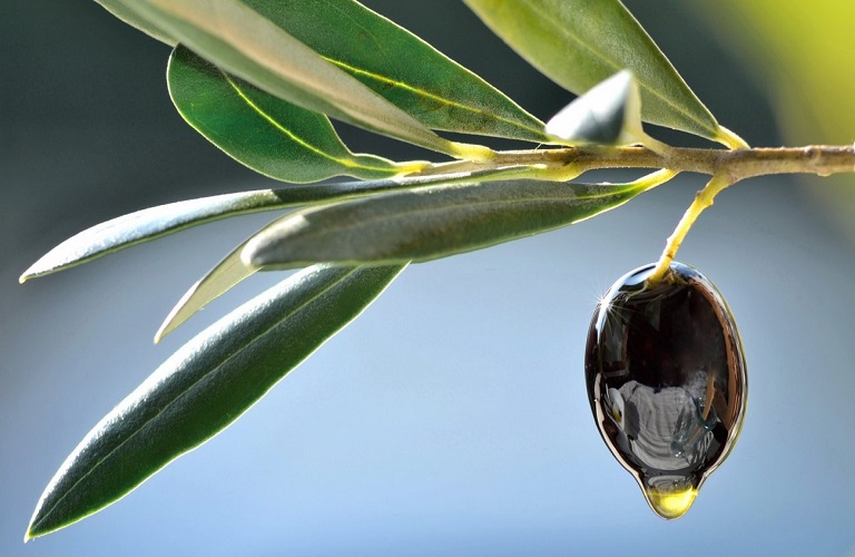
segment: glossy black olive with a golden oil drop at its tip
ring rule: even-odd
[[[593,418],[653,511],[679,518],[727,458],[745,417],[747,377],[725,299],[671,263],[623,275],[591,321],[584,377]]]

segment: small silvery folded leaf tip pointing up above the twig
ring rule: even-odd
[[[547,123],[547,133],[570,145],[639,143],[638,84],[622,70],[577,97]]]

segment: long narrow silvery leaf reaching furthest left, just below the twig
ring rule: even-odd
[[[527,167],[524,166],[510,166],[433,176],[258,189],[170,203],[137,211],[87,228],[45,254],[24,271],[20,281],[26,282],[30,278],[56,273],[126,247],[220,218],[360,197],[379,192],[411,189],[436,184],[501,179],[525,172]]]

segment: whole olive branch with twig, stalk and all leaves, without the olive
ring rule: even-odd
[[[679,173],[711,176],[668,240],[656,283],[723,189],[770,174],[855,172],[853,146],[749,147],[618,0],[466,0],[532,66],[579,95],[547,123],[353,0],[98,1],[174,47],[169,94],[190,126],[287,184],[117,217],[50,251],[21,282],[212,221],[289,211],[193,285],[159,339],[256,272],[305,268],[199,333],[96,424],[46,488],[26,539],[97,512],[222,431],[411,262],[568,226]],[[332,120],[454,160],[354,154]],[[725,148],[666,145],[643,123]],[[495,152],[438,131],[534,147]],[[578,180],[602,168],[652,172],[626,184]],[[338,176],[354,179],[323,182]]]

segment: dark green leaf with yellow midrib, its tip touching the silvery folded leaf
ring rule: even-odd
[[[246,0],[432,129],[546,141],[543,124],[480,77],[352,0]]]

